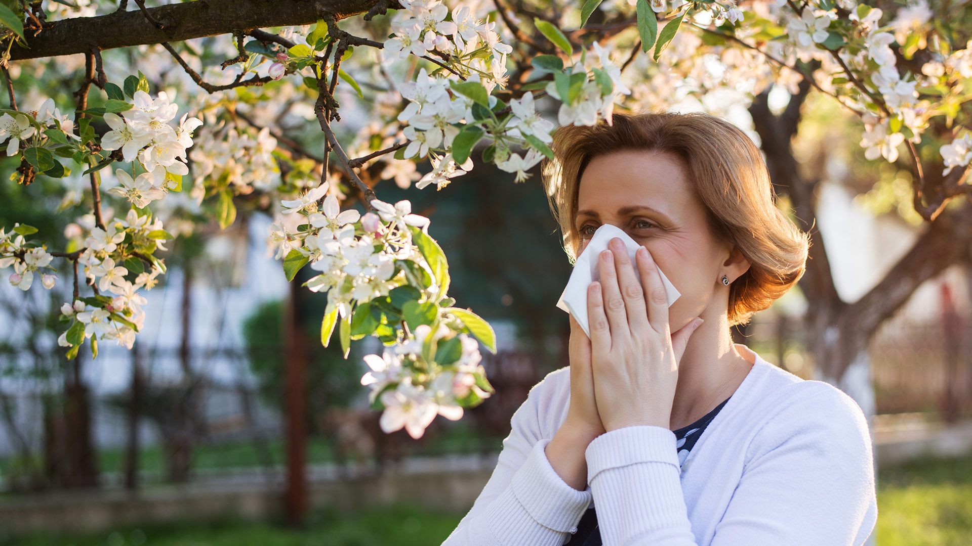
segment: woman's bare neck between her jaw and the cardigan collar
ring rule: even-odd
[[[678,362],[672,430],[691,425],[736,392],[754,364],[748,359],[753,354],[744,358],[736,350],[726,315],[705,319]]]

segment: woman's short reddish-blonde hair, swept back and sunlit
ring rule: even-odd
[[[615,113],[611,125],[602,120],[558,128],[551,149],[554,159],[542,164],[543,186],[572,265],[580,243],[573,219],[584,168],[598,155],[637,150],[680,158],[707,209],[712,232],[751,263],[729,288],[730,325],[746,324],[806,271],[809,236],[777,208],[759,149],[724,119],[700,113]]]

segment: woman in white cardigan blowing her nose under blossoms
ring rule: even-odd
[[[862,544],[878,508],[859,406],[730,336],[807,259],[759,150],[704,114],[615,114],[561,127],[552,148],[544,181],[572,263],[606,222],[644,250],[602,253],[590,338],[572,317],[570,366],[515,412],[443,546]],[[656,268],[681,293],[671,307]]]

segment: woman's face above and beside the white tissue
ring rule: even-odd
[[[705,206],[673,154],[620,151],[595,157],[580,178],[577,211],[576,256],[604,223],[623,229],[651,253],[681,293],[669,308],[673,332],[695,317],[725,313],[728,287],[722,274],[734,281],[748,269],[742,254],[712,233]],[[713,298],[716,290],[721,297]]]

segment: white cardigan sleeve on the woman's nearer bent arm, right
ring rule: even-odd
[[[710,546],[859,546],[877,523],[870,432],[856,402],[827,386],[799,396],[753,437]],[[605,546],[697,546],[675,433],[610,430],[585,453]],[[735,481],[735,480],[733,480]]]

